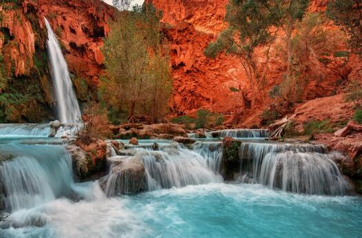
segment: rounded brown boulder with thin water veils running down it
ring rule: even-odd
[[[100,180],[100,187],[108,197],[147,190],[142,159],[132,156],[114,161],[109,174]]]

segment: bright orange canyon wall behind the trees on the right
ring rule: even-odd
[[[173,75],[173,110],[177,115],[192,114],[198,108],[216,112],[242,112],[248,108],[251,88],[236,56],[222,54],[214,60],[204,56],[204,49],[227,27],[224,23],[227,0],[147,0],[162,11],[164,32],[171,42]],[[326,0],[314,0],[309,12],[326,10]],[[169,26],[171,25],[171,26]],[[333,27],[326,25],[326,27]],[[276,42],[280,43],[283,34]],[[271,49],[269,72],[264,88],[259,92],[258,108],[270,101],[268,92],[283,78],[286,65],[276,57],[277,44]],[[341,43],[336,51],[347,51]],[[257,60],[265,61],[263,49],[256,52]],[[349,80],[361,78],[361,61],[348,57],[326,56],[312,62],[312,75],[307,86],[307,99],[333,95]],[[235,88],[237,90],[235,90]],[[264,100],[260,99],[264,98]]]

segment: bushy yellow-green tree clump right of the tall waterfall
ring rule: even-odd
[[[151,4],[121,12],[105,40],[107,77],[100,84],[100,96],[111,110],[127,109],[128,121],[135,121],[136,112],[158,121],[167,107],[169,48],[162,42],[160,17]]]

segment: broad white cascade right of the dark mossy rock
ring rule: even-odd
[[[321,145],[242,143],[239,158],[243,182],[294,193],[344,195],[350,191]]]

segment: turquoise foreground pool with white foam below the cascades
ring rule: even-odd
[[[262,185],[209,184],[105,198],[54,200],[13,213],[8,237],[361,237],[362,199],[298,195]],[[44,226],[26,226],[37,219]],[[39,222],[38,222],[39,223]],[[1,237],[1,236],[0,236]]]

